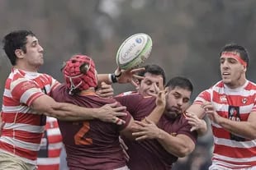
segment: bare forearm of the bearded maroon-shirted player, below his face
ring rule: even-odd
[[[183,158],[191,153],[191,150],[187,147],[187,142],[176,136],[169,135],[166,131],[160,130],[157,140],[168,153],[178,158]]]

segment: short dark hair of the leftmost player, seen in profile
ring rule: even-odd
[[[15,30],[5,35],[2,39],[3,50],[7,54],[7,57],[12,63],[12,66],[16,65],[17,56],[15,50],[21,49],[26,53],[26,36],[36,36],[31,30]]]

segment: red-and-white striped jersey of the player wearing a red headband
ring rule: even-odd
[[[256,85],[246,80],[242,87],[230,89],[219,81],[202,91],[194,103],[205,101],[211,102],[221,117],[245,122],[249,114],[256,114]],[[213,163],[230,169],[256,166],[256,140],[236,136],[214,122],[211,122],[211,128],[215,147]]]

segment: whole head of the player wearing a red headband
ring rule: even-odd
[[[220,73],[223,82],[231,88],[244,85],[249,66],[247,50],[237,44],[227,44],[220,52]]]

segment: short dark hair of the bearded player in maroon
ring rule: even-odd
[[[173,90],[175,87],[180,87],[182,89],[193,92],[192,82],[182,76],[175,76],[168,80],[168,83],[165,85],[165,87],[168,87],[171,90]]]

